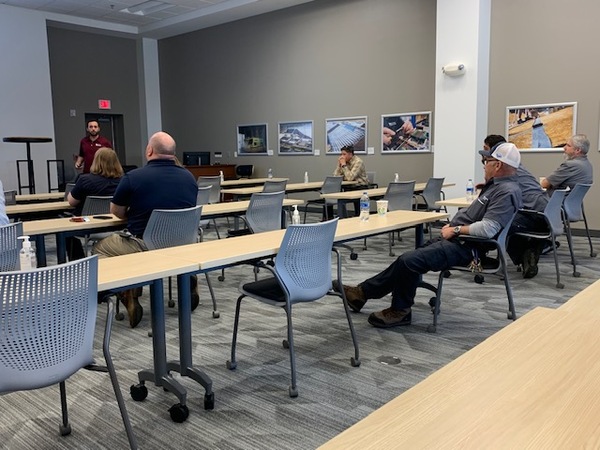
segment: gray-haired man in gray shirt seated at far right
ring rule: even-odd
[[[552,195],[556,189],[573,189],[577,183],[594,182],[594,169],[587,159],[589,149],[590,141],[585,134],[576,134],[567,141],[564,147],[565,161],[542,180],[542,187],[548,195]]]

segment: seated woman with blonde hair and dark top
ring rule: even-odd
[[[81,215],[85,199],[90,195],[112,196],[122,176],[123,167],[115,151],[107,147],[100,148],[94,155],[90,173],[80,175],[67,196],[69,205],[75,207],[73,215]],[[68,237],[66,243],[69,261],[85,257],[79,239]]]

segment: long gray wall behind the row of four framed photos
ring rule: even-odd
[[[163,128],[180,152],[223,152],[257,175],[323,179],[325,119],[368,116],[368,170],[426,181],[431,154],[381,155],[381,114],[431,111],[434,0],[319,0],[159,41]],[[278,156],[279,121],[314,121],[321,156]],[[267,123],[273,156],[233,157],[236,125]],[[361,155],[361,157],[363,157]]]

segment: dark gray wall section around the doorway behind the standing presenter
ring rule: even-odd
[[[48,50],[54,109],[56,156],[65,160],[67,179],[75,174],[72,154],[85,136],[85,113],[122,114],[126,161],[141,165],[140,99],[136,40],[49,26]],[[112,109],[100,111],[98,99]],[[77,111],[70,117],[69,110]],[[102,133],[102,132],[101,132]]]

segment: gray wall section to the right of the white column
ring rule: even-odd
[[[587,134],[589,159],[598,153],[598,17],[592,0],[494,0],[490,65],[490,132],[504,134],[507,106],[577,102],[577,132]],[[536,176],[551,173],[562,153],[523,154]],[[591,227],[600,229],[600,183],[586,198]]]

